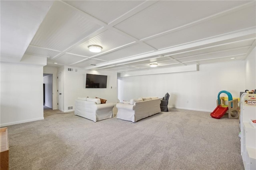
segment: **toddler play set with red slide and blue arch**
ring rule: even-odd
[[[225,93],[226,95],[228,95],[228,105],[225,105],[225,97],[220,97],[221,93]],[[212,113],[210,113],[210,115],[212,118],[220,119],[228,111],[228,118],[238,119],[239,109],[240,108],[238,107],[238,99],[233,99],[232,95],[228,91],[224,90],[218,93],[217,107]],[[232,113],[235,113],[235,115],[232,116]]]

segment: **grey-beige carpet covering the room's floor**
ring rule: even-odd
[[[243,170],[238,119],[170,109],[136,123],[46,110],[8,126],[10,170]]]

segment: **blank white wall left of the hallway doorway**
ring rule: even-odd
[[[1,65],[0,126],[44,119],[43,67]]]

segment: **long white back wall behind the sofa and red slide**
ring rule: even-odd
[[[118,78],[118,99],[163,97],[168,92],[169,107],[211,112],[220,91],[239,97],[244,81],[244,61],[199,65],[193,72]]]

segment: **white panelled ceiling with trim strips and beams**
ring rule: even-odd
[[[125,73],[244,60],[255,40],[254,0],[1,0],[6,62]]]

